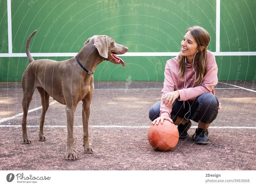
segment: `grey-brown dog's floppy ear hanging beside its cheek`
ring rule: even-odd
[[[107,36],[99,35],[94,38],[94,46],[103,58],[108,58],[108,38]]]

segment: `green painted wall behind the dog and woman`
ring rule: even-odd
[[[253,80],[256,56],[239,52],[256,51],[255,8],[256,1],[220,1],[220,52],[237,52],[216,55],[220,81]],[[7,0],[0,0],[0,15],[0,81],[21,81],[27,58],[1,57],[8,53]],[[208,49],[216,51],[216,0],[13,0],[11,17],[12,53],[25,53],[28,35],[35,29],[31,53],[76,53],[93,35],[109,35],[129,52],[179,52],[185,30],[194,25],[209,32]],[[125,56],[124,67],[103,61],[94,79],[163,81],[165,62],[172,57]]]

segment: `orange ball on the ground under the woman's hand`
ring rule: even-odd
[[[178,128],[168,120],[163,124],[151,125],[148,129],[148,141],[158,151],[170,151],[179,141]]]

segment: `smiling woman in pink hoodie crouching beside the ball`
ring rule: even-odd
[[[178,125],[180,139],[188,137],[191,120],[198,122],[192,137],[197,144],[210,142],[208,128],[221,108],[214,92],[218,67],[214,54],[207,50],[209,42],[210,35],[202,27],[186,31],[180,54],[166,62],[162,101],[149,110],[151,124],[171,121]]]

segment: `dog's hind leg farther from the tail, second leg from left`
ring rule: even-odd
[[[49,108],[49,97],[50,95],[41,87],[37,87],[38,92],[40,93],[41,96],[41,103],[42,103],[42,115],[40,118],[40,127],[39,127],[39,136],[38,140],[39,141],[45,141],[45,136],[44,136],[44,119],[45,119],[45,113]]]

